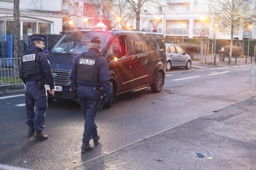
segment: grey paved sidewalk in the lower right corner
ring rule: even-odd
[[[254,99],[163,130],[71,169],[256,170]]]

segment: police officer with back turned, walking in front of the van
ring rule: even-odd
[[[89,143],[91,139],[94,145],[99,144],[100,137],[94,120],[100,101],[101,87],[105,90],[105,97],[102,101],[108,101],[110,98],[108,63],[100,56],[102,42],[98,36],[95,36],[89,46],[88,52],[82,53],[75,59],[70,74],[73,90],[77,84],[77,95],[85,119],[81,152],[93,150],[93,146]]]

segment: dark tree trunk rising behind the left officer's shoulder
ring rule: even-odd
[[[19,23],[19,0],[13,1],[14,21],[14,58],[21,58],[20,23]],[[20,60],[14,60],[13,75],[18,77]]]

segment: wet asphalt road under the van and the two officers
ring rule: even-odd
[[[76,103],[49,104],[45,119],[49,139],[34,142],[26,137],[24,95],[0,96],[0,163],[38,170],[74,167],[254,95],[247,83],[248,68],[172,70],[161,93],[149,88],[120,96],[110,109],[98,112],[101,144],[86,154],[80,153],[84,120]]]

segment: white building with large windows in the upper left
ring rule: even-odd
[[[14,34],[13,6],[13,0],[0,0],[0,37]],[[21,36],[59,34],[67,15],[62,7],[63,0],[19,0]]]

